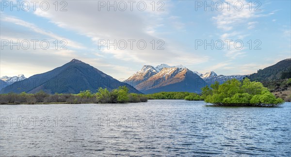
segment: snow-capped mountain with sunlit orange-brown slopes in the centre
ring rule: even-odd
[[[182,65],[169,66],[161,64],[156,68],[153,68],[153,66],[147,66],[150,68],[146,71],[145,67],[146,66],[125,81],[145,94],[162,91],[187,91],[200,93],[201,87],[206,85],[196,73]]]

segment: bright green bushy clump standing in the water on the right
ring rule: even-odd
[[[276,107],[284,102],[260,82],[251,82],[248,78],[242,81],[228,80],[221,85],[215,82],[210,87],[205,86],[202,88],[201,97],[214,106]]]

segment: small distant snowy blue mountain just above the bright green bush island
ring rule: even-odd
[[[213,84],[215,81],[219,82],[219,84],[222,84],[226,82],[227,80],[231,79],[237,79],[242,80],[246,75],[217,75],[214,71],[210,71],[205,73],[204,75],[201,74],[200,77],[207,83],[207,84]]]

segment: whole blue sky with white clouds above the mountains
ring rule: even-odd
[[[291,58],[290,0],[0,2],[0,76],[73,58],[116,79],[162,63],[235,75]]]

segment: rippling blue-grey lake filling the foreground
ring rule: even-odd
[[[291,103],[0,105],[0,156],[291,156]]]

